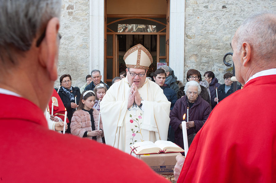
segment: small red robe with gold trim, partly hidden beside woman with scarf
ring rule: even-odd
[[[50,114],[52,114],[52,102],[54,103],[54,116],[57,116],[60,119],[62,119],[62,121],[64,121],[65,107],[63,105],[61,98],[59,97],[59,94],[56,92],[55,89],[53,89],[52,97],[47,106],[47,110]],[[69,123],[68,117],[66,117],[66,123]]]

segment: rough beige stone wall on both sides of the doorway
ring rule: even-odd
[[[90,65],[95,61],[90,59],[89,40],[91,39],[93,45],[94,39],[89,37],[90,1],[63,0],[60,18],[62,39],[59,48],[58,73],[59,76],[70,74],[73,79],[72,85],[79,87],[85,83],[85,76],[89,74]],[[205,71],[213,71],[219,82],[223,83],[223,71],[227,67],[223,64],[222,58],[225,53],[232,52],[230,42],[236,29],[253,13],[263,10],[276,12],[275,0],[186,0],[182,5],[185,6],[185,26],[181,27],[183,29],[181,32],[184,34],[182,35],[184,59],[171,59],[170,65],[184,63],[183,68],[180,68],[184,73],[182,77],[179,78],[176,73],[178,79],[184,82],[186,82],[185,76],[188,69],[194,68],[199,70],[202,76]],[[104,27],[99,31],[104,32]],[[170,31],[170,34],[173,32]],[[170,50],[171,53],[173,50]],[[231,56],[228,56],[227,60],[232,60]],[[103,65],[103,61],[100,62]],[[55,87],[57,86],[59,81],[55,84]]]

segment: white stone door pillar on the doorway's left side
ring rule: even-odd
[[[104,80],[104,0],[90,0],[89,8],[89,72],[101,71]]]

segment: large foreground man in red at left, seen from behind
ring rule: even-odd
[[[167,182],[96,141],[48,130],[61,0],[0,3],[0,181]]]

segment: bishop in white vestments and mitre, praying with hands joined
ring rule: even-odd
[[[101,102],[105,143],[130,153],[136,142],[167,140],[171,102],[146,78],[152,57],[138,44],[125,56],[127,77],[114,83]]]

